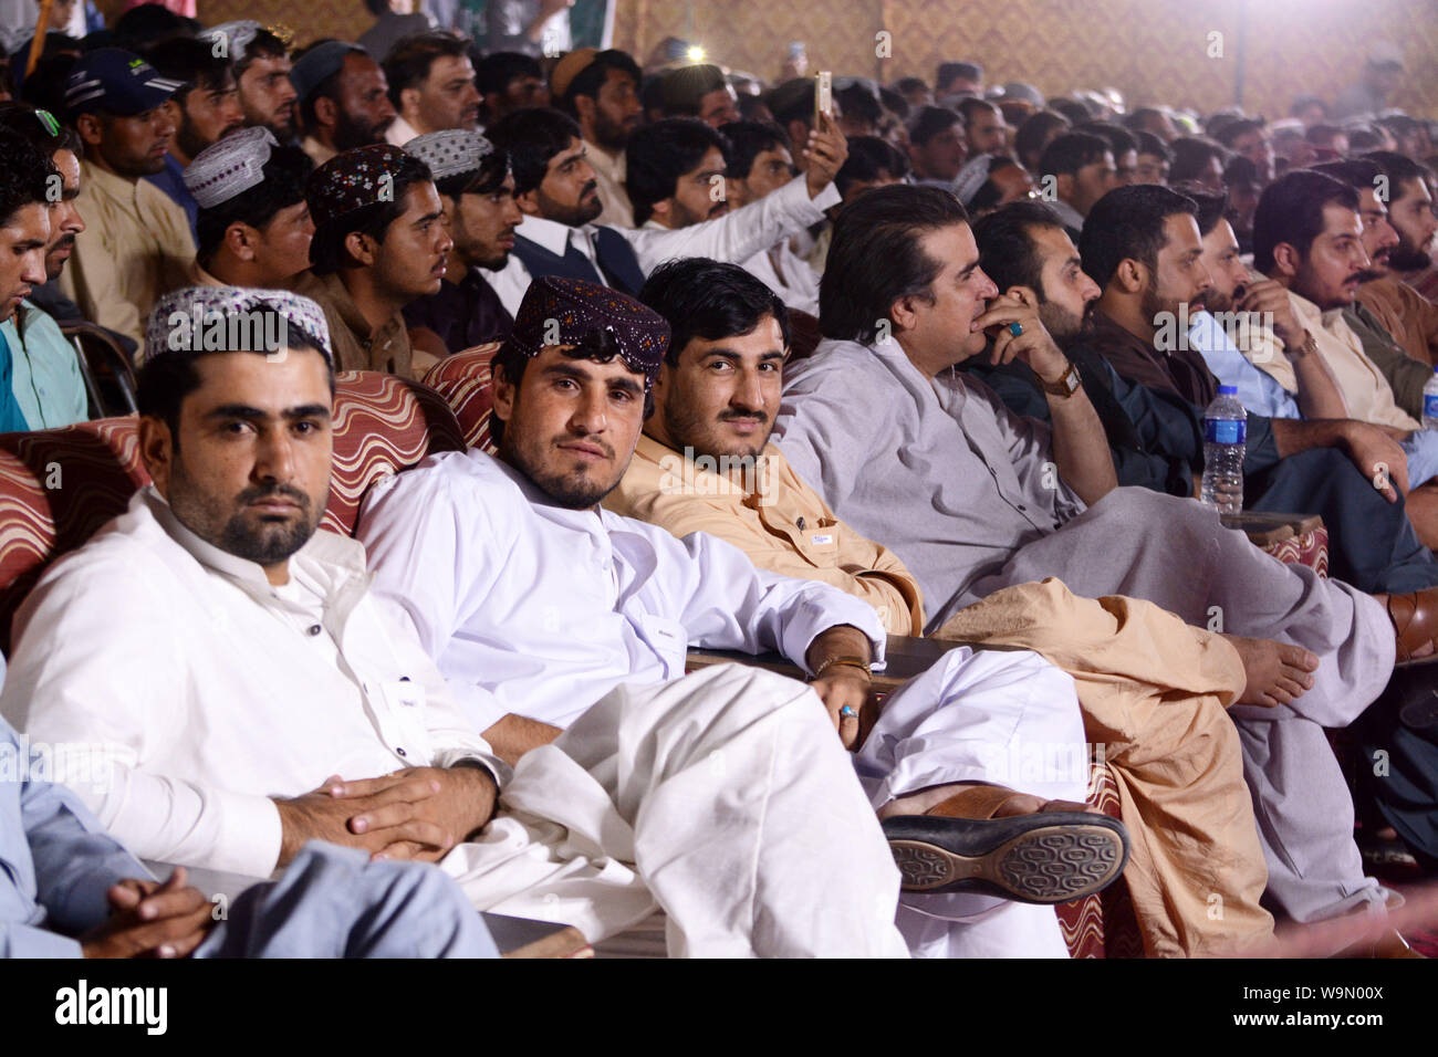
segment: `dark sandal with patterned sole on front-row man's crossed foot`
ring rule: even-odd
[[[894,815],[883,821],[905,892],[969,892],[1067,903],[1102,892],[1129,861],[1123,823],[1083,811],[1009,818]]]

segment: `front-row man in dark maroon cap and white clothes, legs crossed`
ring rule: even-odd
[[[870,662],[883,659],[874,610],[827,584],[755,569],[706,534],[680,541],[598,506],[633,456],[667,342],[663,318],[627,295],[580,279],[536,279],[495,358],[499,457],[434,456],[367,498],[357,535],[371,555],[375,594],[414,628],[486,741],[521,768],[546,758],[551,743],[591,731],[605,695],[624,686],[657,689],[700,715],[725,700],[736,722],[802,716],[824,742],[811,746],[814,767],[837,781],[830,768],[848,762],[827,749],[857,743]],[[735,666],[686,676],[689,644],[779,651],[812,673],[814,692]],[[961,660],[952,654],[890,696],[853,762],[874,807],[892,813],[890,841],[933,867],[926,894],[906,899],[913,906],[900,925],[926,953],[1064,956],[1048,907],[1004,900],[1045,903],[1060,892],[1094,890],[1123,864],[1122,827],[1054,802],[1081,800],[1087,781],[1073,680],[1030,653]],[[1002,685],[1022,677],[1031,693],[1002,703]],[[824,733],[825,723],[840,738]],[[925,815],[959,792],[955,782],[974,779],[975,758],[1018,745],[1077,749],[1070,759],[1080,762],[1035,781],[1040,795],[989,787],[985,810],[1002,818],[969,814],[968,805]],[[759,798],[801,779],[792,762],[768,754],[723,759]],[[827,807],[800,798],[784,810]],[[874,807],[863,820],[833,820],[827,833],[853,838],[841,828],[850,824],[870,833]],[[769,817],[781,817],[778,804]],[[1064,864],[1050,863],[1041,883],[1004,874],[997,848],[1008,840],[1040,857],[1064,847]],[[1007,880],[958,880],[981,864],[985,876]],[[995,916],[994,925],[953,920],[976,915]],[[952,939],[951,923],[975,929],[974,945]]]

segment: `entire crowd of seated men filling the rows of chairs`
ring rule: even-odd
[[[1280,121],[974,62],[825,106],[802,56],[641,65],[528,7],[487,50],[155,6],[16,47],[0,431],[106,413],[88,325],[151,483],[14,616],[0,952],[495,956],[486,910],[1063,958],[1054,905],[1122,877],[1149,956],[1419,956],[1369,846],[1438,866],[1401,56]],[[477,348],[495,450],[319,531],[336,372]],[[1320,515],[1326,571],[1198,502],[1219,385],[1247,506]],[[880,696],[892,634],[942,651]],[[244,880],[226,920],[187,870]]]

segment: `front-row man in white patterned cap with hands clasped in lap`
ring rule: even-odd
[[[725,669],[692,683],[710,695],[621,687],[572,739],[513,772],[496,758],[375,604],[364,548],[316,531],[326,345],[292,293],[162,299],[138,394],[154,486],[20,610],[0,712],[112,761],[72,791],[115,838],[253,877],[315,840],[441,861],[477,909],[591,941],[661,906],[674,953],[902,955],[897,873],[798,685]]]

